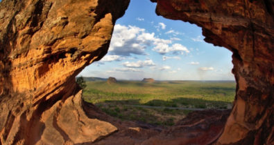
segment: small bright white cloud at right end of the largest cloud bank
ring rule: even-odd
[[[159,52],[162,55],[168,52],[173,52],[173,54],[180,53],[181,55],[184,52],[189,52],[189,50],[185,46],[182,46],[182,44],[180,43],[174,43],[172,46],[169,46],[166,43],[157,43],[157,46],[155,46],[153,50],[155,50],[156,52]]]

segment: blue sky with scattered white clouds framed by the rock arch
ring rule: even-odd
[[[234,80],[232,52],[203,41],[198,26],[164,19],[155,3],[131,0],[114,26],[108,55],[85,68],[84,77],[139,80]]]

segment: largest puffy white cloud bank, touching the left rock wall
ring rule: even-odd
[[[147,55],[145,50],[153,46],[153,50],[164,55],[168,52],[183,54],[189,50],[180,43],[173,43],[171,39],[160,39],[155,33],[146,32],[145,29],[136,26],[114,26],[114,32],[110,43],[109,52],[111,55]]]

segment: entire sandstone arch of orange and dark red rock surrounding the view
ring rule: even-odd
[[[3,0],[1,144],[273,144],[273,1],[151,1],[156,14],[195,23],[205,41],[233,52],[237,89],[225,124],[214,113],[155,134],[81,99],[75,77],[108,52],[129,0]]]

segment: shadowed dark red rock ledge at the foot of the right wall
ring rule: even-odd
[[[212,144],[223,132],[230,110],[199,110],[159,135],[142,142],[148,144]]]

